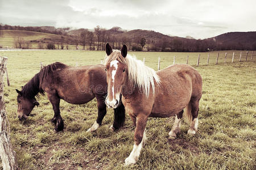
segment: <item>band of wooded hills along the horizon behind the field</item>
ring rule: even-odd
[[[81,35],[81,33],[83,34]],[[2,34],[2,35],[1,35]],[[196,40],[191,36],[168,36],[160,32],[134,29],[126,31],[120,27],[105,29],[100,27],[99,34],[93,30],[55,27],[20,27],[0,24],[0,46],[14,46],[14,39],[22,37],[32,47],[43,43],[75,45],[75,49],[104,50],[106,42],[115,49],[122,44],[130,50],[205,52],[208,50],[256,50],[256,32],[229,32],[216,37]],[[146,40],[146,41],[145,41]],[[143,42],[144,41],[144,42]],[[80,47],[79,47],[80,46]],[[46,48],[46,46],[44,46]]]

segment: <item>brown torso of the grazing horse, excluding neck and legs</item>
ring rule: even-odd
[[[106,94],[105,74],[104,65],[67,66],[48,74],[43,87],[68,103],[84,104],[97,94]]]

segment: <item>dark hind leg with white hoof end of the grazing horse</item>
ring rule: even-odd
[[[102,120],[106,115],[106,104],[105,104],[104,97],[96,95],[96,100],[97,100],[97,108],[98,108],[98,117],[97,117],[97,120],[92,125],[92,127],[90,127],[87,131],[97,130],[98,127],[100,127],[100,125],[102,124]]]

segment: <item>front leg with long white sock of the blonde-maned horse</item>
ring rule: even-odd
[[[147,124],[147,118],[148,116],[146,116],[145,114],[138,114],[136,117],[133,151],[131,151],[129,157],[125,159],[125,165],[135,164],[139,159],[142,147],[146,143],[147,139],[145,129]]]

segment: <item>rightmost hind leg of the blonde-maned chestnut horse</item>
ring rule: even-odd
[[[199,100],[191,99],[191,114],[192,122],[190,128],[188,129],[188,134],[196,134],[198,128],[198,112],[199,112]]]

